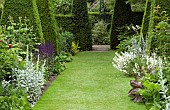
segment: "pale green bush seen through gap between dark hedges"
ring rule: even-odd
[[[93,44],[109,44],[109,34],[107,32],[107,24],[104,21],[99,21],[94,24],[92,29]]]

